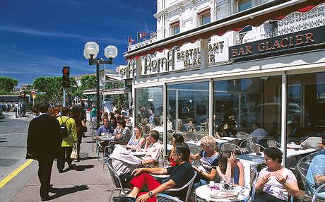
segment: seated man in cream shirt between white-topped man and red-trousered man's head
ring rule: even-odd
[[[146,138],[145,145],[147,153],[143,157],[142,165],[154,165],[155,162],[158,162],[158,159],[164,150],[158,139],[158,131],[149,131],[149,136]]]

